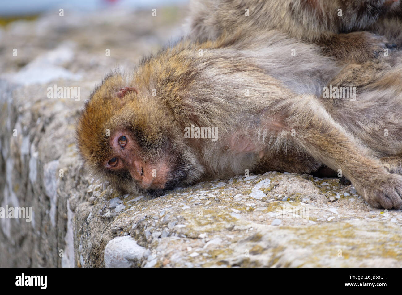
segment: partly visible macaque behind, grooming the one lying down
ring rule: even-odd
[[[377,34],[393,35],[384,16],[399,13],[399,0],[193,0],[189,7],[189,35],[199,40],[277,29],[318,45],[340,64],[369,61],[398,46]],[[384,25],[374,27],[381,17]]]

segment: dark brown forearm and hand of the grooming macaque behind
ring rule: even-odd
[[[317,43],[322,45],[326,55],[336,57],[340,63],[363,63],[384,54],[386,48],[396,47],[389,44],[386,37],[365,31],[334,34]]]

